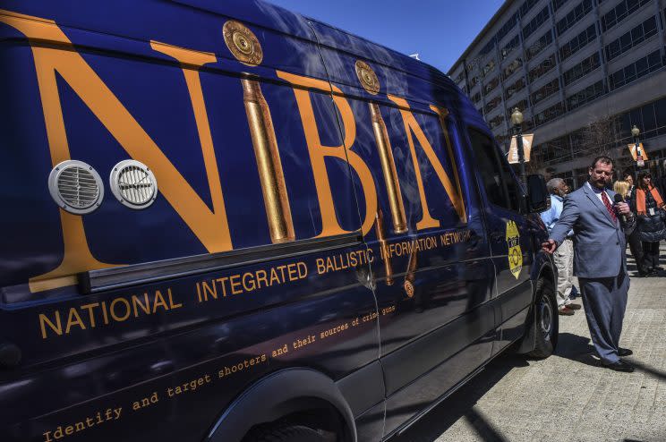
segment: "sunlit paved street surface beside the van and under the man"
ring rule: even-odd
[[[631,279],[621,345],[634,373],[598,366],[583,310],[559,320],[551,358],[492,361],[400,442],[666,441],[666,273]]]

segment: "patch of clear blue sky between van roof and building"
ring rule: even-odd
[[[268,0],[447,72],[504,0]]]

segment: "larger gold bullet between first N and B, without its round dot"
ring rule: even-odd
[[[269,104],[261,94],[259,81],[243,78],[241,83],[266,217],[269,221],[270,239],[273,243],[294,241],[294,223]]]

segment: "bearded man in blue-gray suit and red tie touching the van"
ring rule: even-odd
[[[634,371],[620,359],[632,352],[619,347],[619,335],[629,290],[623,230],[631,233],[636,221],[627,203],[613,207],[615,192],[606,189],[612,173],[610,157],[594,158],[587,183],[568,194],[559,221],[542,248],[554,252],[574,229],[574,274],[582,289],[594,349],[605,367]]]

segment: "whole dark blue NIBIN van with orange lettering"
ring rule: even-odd
[[[0,440],[396,435],[557,343],[465,95],[260,1],[0,0]]]

